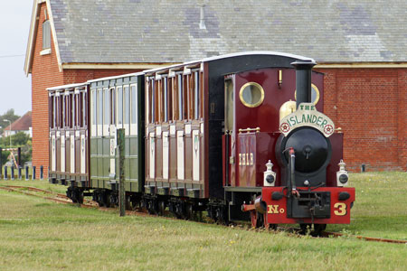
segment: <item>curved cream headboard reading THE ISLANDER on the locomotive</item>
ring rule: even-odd
[[[279,121],[279,130],[284,136],[301,126],[314,127],[326,137],[334,134],[335,131],[334,122],[326,115],[318,112],[313,103],[300,104],[297,111]]]

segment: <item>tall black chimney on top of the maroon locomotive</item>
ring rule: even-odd
[[[301,103],[310,103],[311,100],[311,70],[317,63],[315,61],[294,61],[296,67],[297,108]]]

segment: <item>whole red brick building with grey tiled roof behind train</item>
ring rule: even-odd
[[[402,2],[33,2],[24,70],[33,80],[33,165],[45,171],[47,88],[260,50],[317,60],[325,112],[345,133],[348,169],[407,170],[407,35],[394,20],[404,16]]]

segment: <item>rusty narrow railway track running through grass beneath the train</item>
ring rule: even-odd
[[[99,210],[112,210],[111,208],[99,207],[99,204],[96,201],[90,201],[88,199],[84,199],[83,200],[84,202],[82,204],[73,203],[71,201],[71,199],[69,199],[64,194],[46,191],[46,190],[36,188],[36,187],[5,185],[5,186],[0,186],[0,189],[8,191],[8,192],[18,192],[18,193],[22,193],[22,194],[29,195],[29,196],[41,197],[48,201],[54,201],[54,202],[63,203],[63,204],[71,204],[71,205],[75,205],[75,206],[80,205],[80,207],[83,207],[83,208],[98,208]],[[39,193],[43,193],[45,195],[51,195],[51,196],[45,196],[45,195],[42,195]],[[156,217],[156,215],[150,215],[147,212],[138,211],[138,210],[126,210],[126,214],[127,215]],[[233,228],[244,229],[244,226],[243,227],[242,226],[239,227],[239,226],[241,226],[241,225],[234,225]],[[291,232],[295,232],[295,233],[298,233],[300,231],[300,229],[288,228],[288,227],[279,227],[277,230],[291,231]],[[374,242],[393,243],[393,244],[407,244],[407,240],[398,240],[398,239],[389,239],[389,238],[371,238],[371,237],[364,237],[364,236],[359,236],[359,235],[349,235],[349,234],[333,232],[333,231],[323,231],[322,237],[325,237],[325,238],[349,237],[349,238],[358,238],[358,239],[361,239],[364,241],[374,241]]]

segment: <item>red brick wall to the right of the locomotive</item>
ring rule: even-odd
[[[407,170],[407,69],[325,69],[324,110],[345,134],[349,170]]]

